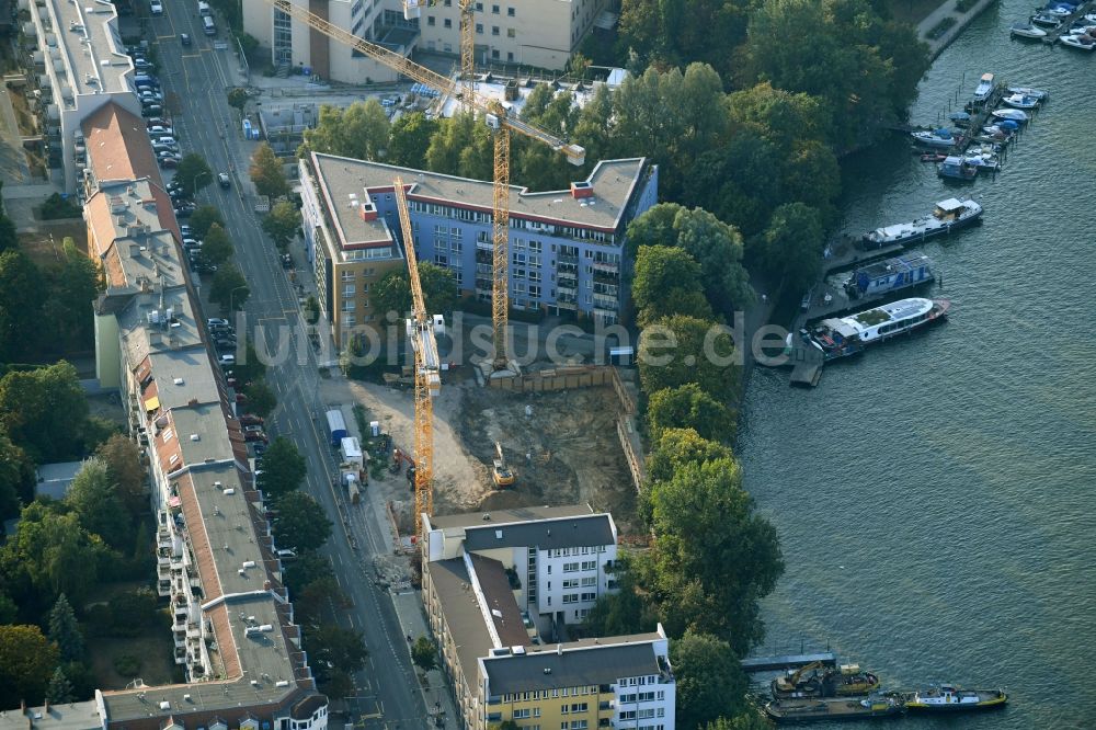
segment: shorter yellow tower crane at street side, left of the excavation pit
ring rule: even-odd
[[[431,481],[434,478],[433,398],[442,390],[435,326],[441,324],[442,318],[438,316],[431,319],[426,315],[403,180],[397,178],[393,185],[411,280],[411,318],[407,321],[407,327],[408,340],[414,351],[414,534],[418,536],[422,532],[423,512],[434,514],[434,489]]]

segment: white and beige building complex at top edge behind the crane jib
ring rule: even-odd
[[[410,56],[416,48],[460,55],[459,0],[420,2],[408,21],[400,0],[293,0],[355,36]],[[607,0],[484,0],[476,2],[476,62],[562,70],[605,13]],[[604,21],[603,21],[604,22]],[[275,11],[243,0],[243,30],[270,48],[276,67],[308,68],[341,83],[392,81],[396,73],[352,48]]]

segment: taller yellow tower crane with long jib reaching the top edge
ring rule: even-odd
[[[292,19],[304,23],[329,38],[350,46],[378,64],[384,64],[388,68],[419,83],[424,83],[432,89],[436,89],[445,95],[456,95],[456,81],[431,71],[429,68],[415,64],[410,58],[404,58],[384,46],[378,46],[375,43],[359,38],[350,31],[331,24],[308,9],[295,5],[292,0],[266,0],[266,2]],[[461,19],[464,20],[464,5],[461,5]],[[469,23],[464,23],[463,26],[470,25],[470,9],[468,11],[468,20]],[[461,32],[464,33],[464,30]],[[461,42],[463,60],[466,53],[465,45]],[[470,58],[470,45],[467,52]],[[471,83],[468,79],[465,79],[465,81],[469,84]],[[483,96],[468,85],[464,87],[463,93],[459,96],[467,107],[482,115],[483,121],[491,127],[494,138],[494,195],[491,226],[493,246],[491,263],[493,274],[491,281],[491,326],[494,335],[494,366],[498,369],[505,367],[509,362],[506,330],[510,313],[510,135],[512,132],[516,132],[530,139],[548,145],[551,149],[563,152],[567,161],[574,166],[585,163],[586,150],[579,145],[570,144],[544,129],[527,124],[516,116],[511,116],[502,102],[496,99]]]

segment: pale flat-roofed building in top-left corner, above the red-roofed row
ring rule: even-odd
[[[22,31],[45,107],[48,164],[61,168],[65,191],[75,193],[83,168],[83,121],[112,101],[140,116],[133,60],[107,0],[20,0],[19,8],[31,15]]]

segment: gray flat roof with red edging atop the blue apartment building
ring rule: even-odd
[[[456,205],[488,214],[494,209],[494,185],[491,181],[317,152],[312,153],[312,163],[320,184],[329,194],[333,213],[344,228],[356,226],[354,220],[361,224],[357,212],[350,207],[349,195],[362,197],[366,191],[374,189],[391,194],[392,180],[397,175],[410,186],[408,198],[411,201]],[[581,199],[574,198],[570,190],[532,193],[527,187],[511,185],[510,216],[616,231],[632,194],[639,187],[643,168],[643,158],[598,162],[585,181],[590,182],[593,195]]]

